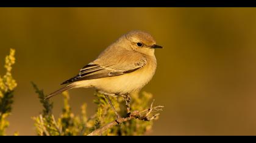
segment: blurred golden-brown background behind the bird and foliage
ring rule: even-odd
[[[256,135],[256,8],[0,8],[0,21],[0,65],[16,49],[8,135],[35,135],[30,81],[56,90],[130,30],[164,47],[142,89],[165,105],[150,135]],[[69,93],[74,113],[83,102],[94,113],[93,88]],[[60,115],[63,97],[51,100]]]

